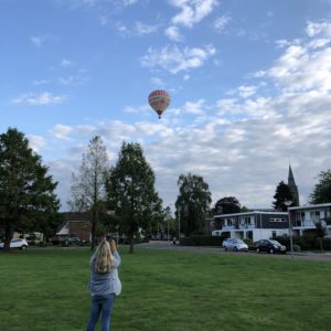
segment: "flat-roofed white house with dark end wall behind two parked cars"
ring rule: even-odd
[[[289,234],[288,213],[253,211],[214,216],[212,235],[253,242]]]

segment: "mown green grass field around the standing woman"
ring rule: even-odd
[[[331,263],[120,249],[114,331],[330,330]],[[88,248],[0,253],[0,330],[85,330]]]

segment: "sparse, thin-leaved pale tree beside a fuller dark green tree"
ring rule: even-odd
[[[106,147],[99,136],[89,140],[87,152],[83,153],[78,174],[72,174],[72,212],[92,213],[92,246],[94,248],[99,213],[105,210],[106,173],[109,170]]]

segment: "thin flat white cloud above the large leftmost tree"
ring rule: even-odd
[[[67,96],[65,95],[53,95],[52,93],[44,92],[40,95],[34,93],[25,93],[20,95],[19,97],[11,100],[13,105],[26,105],[26,106],[45,106],[45,105],[56,105],[63,104],[67,100]]]

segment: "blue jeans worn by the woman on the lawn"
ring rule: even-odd
[[[86,331],[94,331],[94,328],[102,313],[102,331],[110,330],[110,316],[115,293],[105,296],[92,296],[92,309]]]

